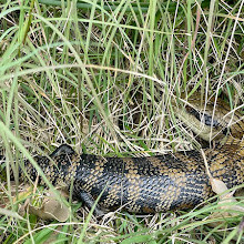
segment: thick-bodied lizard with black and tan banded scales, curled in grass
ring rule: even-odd
[[[213,101],[203,110],[197,105],[197,99],[193,99],[195,106],[185,108],[189,115],[184,112],[180,115],[190,128],[191,122],[196,125],[200,120],[204,122],[204,132],[200,136],[205,139],[206,132],[212,129],[217,136],[226,135],[227,131],[238,138],[243,135],[244,122],[238,113],[228,115],[227,122],[223,121],[224,114],[230,111],[223,103],[220,105],[222,111],[215,113],[212,123]],[[230,121],[234,126],[225,130]],[[192,130],[200,133],[194,126]],[[222,180],[228,189],[244,183],[244,142],[228,136],[224,145],[215,150],[206,149],[204,153],[213,177]],[[78,155],[69,145],[61,145],[49,157],[37,156],[35,161],[53,185],[70,187],[73,182],[73,196],[89,207],[101,193],[99,206],[109,210],[123,206],[139,213],[187,209],[213,195],[204,160],[199,151],[119,159]],[[24,164],[28,175],[35,181],[37,170],[29,161]],[[20,170],[20,179],[24,177],[24,172]],[[39,183],[44,184],[41,177]],[[95,207],[95,214],[100,215],[99,206]]]

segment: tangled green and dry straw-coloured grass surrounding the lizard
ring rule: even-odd
[[[200,92],[203,101],[221,96],[232,110],[243,104],[243,1],[0,0],[0,143],[7,169],[62,143],[80,153],[118,156],[192,149],[197,141],[172,109],[175,101],[181,105],[182,93]],[[9,197],[7,207],[16,213],[8,173],[7,179],[1,197]],[[2,215],[1,241],[243,242],[241,216],[209,225],[215,204],[103,220],[85,218],[79,207],[71,204],[67,223]]]

